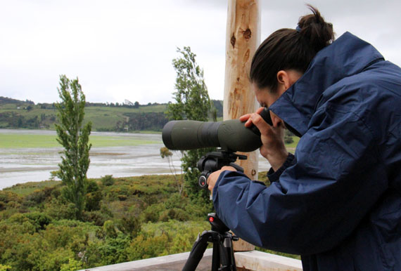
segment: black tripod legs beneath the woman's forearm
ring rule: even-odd
[[[238,237],[229,232],[229,228],[215,213],[209,213],[208,220],[212,225],[212,230],[205,230],[198,235],[182,271],[196,270],[208,242],[213,243],[212,271],[236,271],[233,241],[237,241]]]

